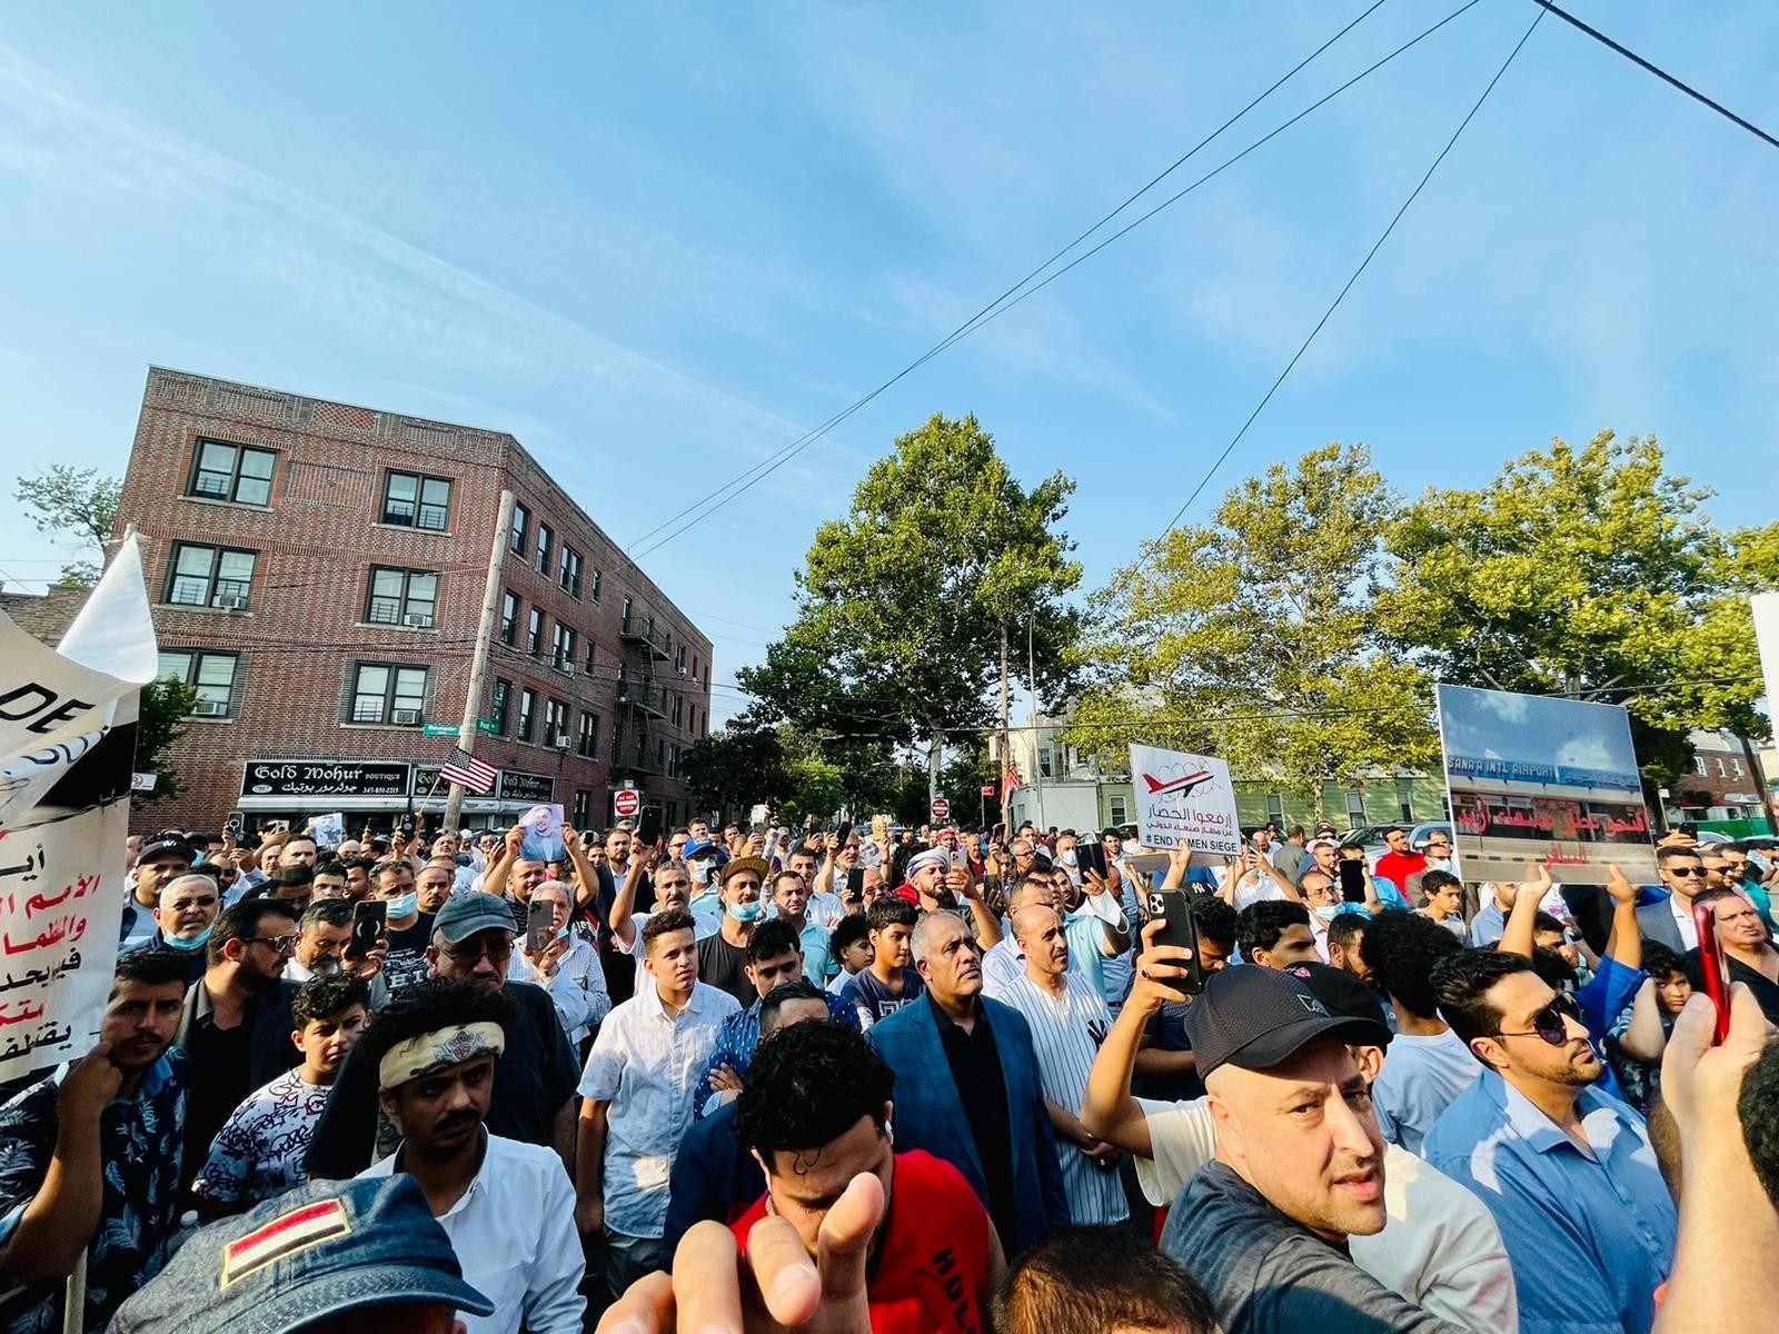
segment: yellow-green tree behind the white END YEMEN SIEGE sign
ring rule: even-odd
[[[1146,542],[1092,598],[1094,685],[1064,740],[1204,751],[1320,799],[1325,777],[1432,768],[1427,674],[1386,651],[1373,598],[1398,500],[1363,445],[1233,487],[1208,525]]]

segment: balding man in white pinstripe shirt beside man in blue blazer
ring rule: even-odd
[[[1119,1151],[1082,1124],[1082,1099],[1099,1044],[1112,1028],[1105,996],[1069,969],[1069,937],[1062,914],[1048,904],[1026,904],[1012,914],[1025,971],[989,994],[1012,1005],[1032,1028],[1037,1076],[1050,1124],[1057,1131],[1062,1188],[1076,1224],[1107,1226],[1130,1217],[1119,1183]]]

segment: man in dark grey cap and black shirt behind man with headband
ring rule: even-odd
[[[575,1149],[575,1083],[578,1064],[562,1021],[543,987],[509,982],[512,914],[493,895],[450,900],[432,920],[427,962],[432,976],[463,978],[482,987],[505,987],[519,1007],[519,1023],[495,1064],[487,1129],[525,1144],[546,1144],[562,1161]],[[377,1154],[395,1151],[400,1133],[377,1117],[377,1065],[363,1049],[340,1067],[327,1110],[315,1126],[304,1165],[311,1177],[349,1177],[370,1167]]]

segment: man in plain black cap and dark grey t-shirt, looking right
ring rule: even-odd
[[[1174,1204],[1162,1250],[1188,1263],[1226,1334],[1313,1327],[1459,1330],[1359,1268],[1352,1234],[1384,1229],[1384,1137],[1348,1044],[1389,1030],[1334,1016],[1300,978],[1211,975],[1187,1012],[1217,1158]]]

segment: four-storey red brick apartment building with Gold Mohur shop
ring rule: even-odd
[[[149,368],[117,530],[137,528],[162,672],[199,701],[185,792],[139,824],[443,811],[503,489],[475,745],[500,784],[466,824],[560,802],[600,829],[621,786],[681,822],[710,640],[512,436]]]

